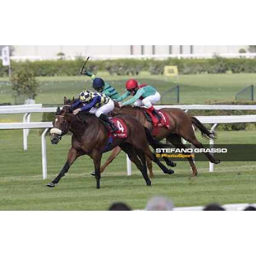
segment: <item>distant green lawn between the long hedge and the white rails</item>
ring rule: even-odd
[[[128,76],[109,76],[100,72],[106,81],[109,81],[119,93],[124,93],[125,81]],[[168,91],[175,84],[174,78],[165,76],[150,76],[142,73],[137,77],[139,81],[154,85],[161,94]],[[36,98],[37,103],[62,104],[62,97],[76,96],[83,88],[90,88],[90,78],[78,77],[40,77],[41,87]],[[0,103],[14,102],[12,90],[4,84],[6,79],[0,79]],[[183,75],[179,76],[180,103],[204,104],[209,101],[232,101],[241,89],[256,83],[256,74],[211,74],[211,75]],[[170,102],[171,103],[171,102]]]

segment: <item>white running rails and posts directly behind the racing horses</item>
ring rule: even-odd
[[[161,108],[182,108],[183,110],[256,110],[256,105],[166,105],[156,106],[157,109]],[[47,161],[46,161],[46,142],[45,134],[49,128],[52,128],[51,122],[38,122],[30,123],[27,116],[30,113],[49,113],[55,112],[56,108],[41,108],[41,105],[20,105],[20,106],[1,106],[0,114],[14,114],[25,113],[23,117],[23,123],[0,123],[0,129],[23,129],[23,147],[27,150],[27,129],[45,128],[42,134],[42,165],[43,165],[43,178],[47,177]],[[221,123],[239,123],[239,122],[256,122],[256,115],[246,116],[197,116],[200,122],[203,124],[214,124],[212,131],[215,130],[218,124]],[[210,144],[213,145],[214,141],[210,140]],[[209,171],[213,172],[213,164],[210,163]],[[131,175],[131,162],[127,159],[127,173]]]

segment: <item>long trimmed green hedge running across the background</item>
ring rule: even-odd
[[[83,65],[83,59],[74,61],[12,61],[11,67],[28,65],[36,76],[77,76]],[[89,61],[88,70],[94,73],[97,70],[108,72],[111,75],[138,75],[142,70],[149,71],[152,75],[163,74],[164,66],[178,66],[180,74],[197,73],[256,73],[256,59],[246,58],[212,58],[212,59],[175,59],[166,60],[137,60],[137,59],[117,59],[105,61]],[[0,64],[0,76],[8,76],[8,67]]]

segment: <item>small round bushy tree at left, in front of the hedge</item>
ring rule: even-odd
[[[39,81],[28,68],[16,70],[12,74],[11,84],[15,96],[26,96],[28,99],[35,99],[40,86]]]

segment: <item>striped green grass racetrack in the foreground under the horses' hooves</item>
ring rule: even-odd
[[[151,187],[133,166],[126,176],[126,159],[121,154],[102,175],[101,189],[90,173],[92,160],[81,157],[54,189],[46,187],[60,171],[70,147],[70,136],[53,146],[47,138],[48,179],[41,177],[41,137],[37,131],[29,136],[29,150],[23,151],[21,131],[0,132],[0,210],[105,210],[114,201],[123,201],[134,209],[143,209],[154,195],[166,195],[176,207],[256,202],[256,163],[226,162],[209,173],[208,162],[198,162],[199,176],[189,179],[189,164],[179,162],[175,175],[164,175],[154,165]],[[219,132],[218,143],[255,141],[255,132]],[[104,159],[108,156],[106,154]]]

